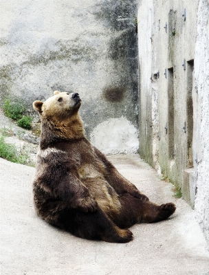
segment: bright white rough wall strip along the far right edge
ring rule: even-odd
[[[197,219],[209,243],[209,2],[199,0],[195,47],[195,94],[198,117],[195,121],[195,172]]]

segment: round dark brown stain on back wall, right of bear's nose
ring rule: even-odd
[[[102,96],[109,102],[121,102],[124,99],[123,87],[107,87],[102,91]]]

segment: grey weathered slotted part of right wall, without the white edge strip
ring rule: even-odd
[[[184,184],[182,171],[193,166],[196,4],[180,0],[140,1],[138,13],[142,41],[140,153],[180,188]],[[185,9],[186,20],[182,17]],[[146,32],[145,22],[149,26]]]

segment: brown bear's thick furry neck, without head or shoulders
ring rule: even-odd
[[[42,119],[40,147],[47,148],[56,142],[74,141],[85,138],[83,121],[80,115],[62,121]]]

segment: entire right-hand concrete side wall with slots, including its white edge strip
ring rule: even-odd
[[[207,14],[208,1],[141,0],[137,20],[140,155],[180,188],[208,238]]]

